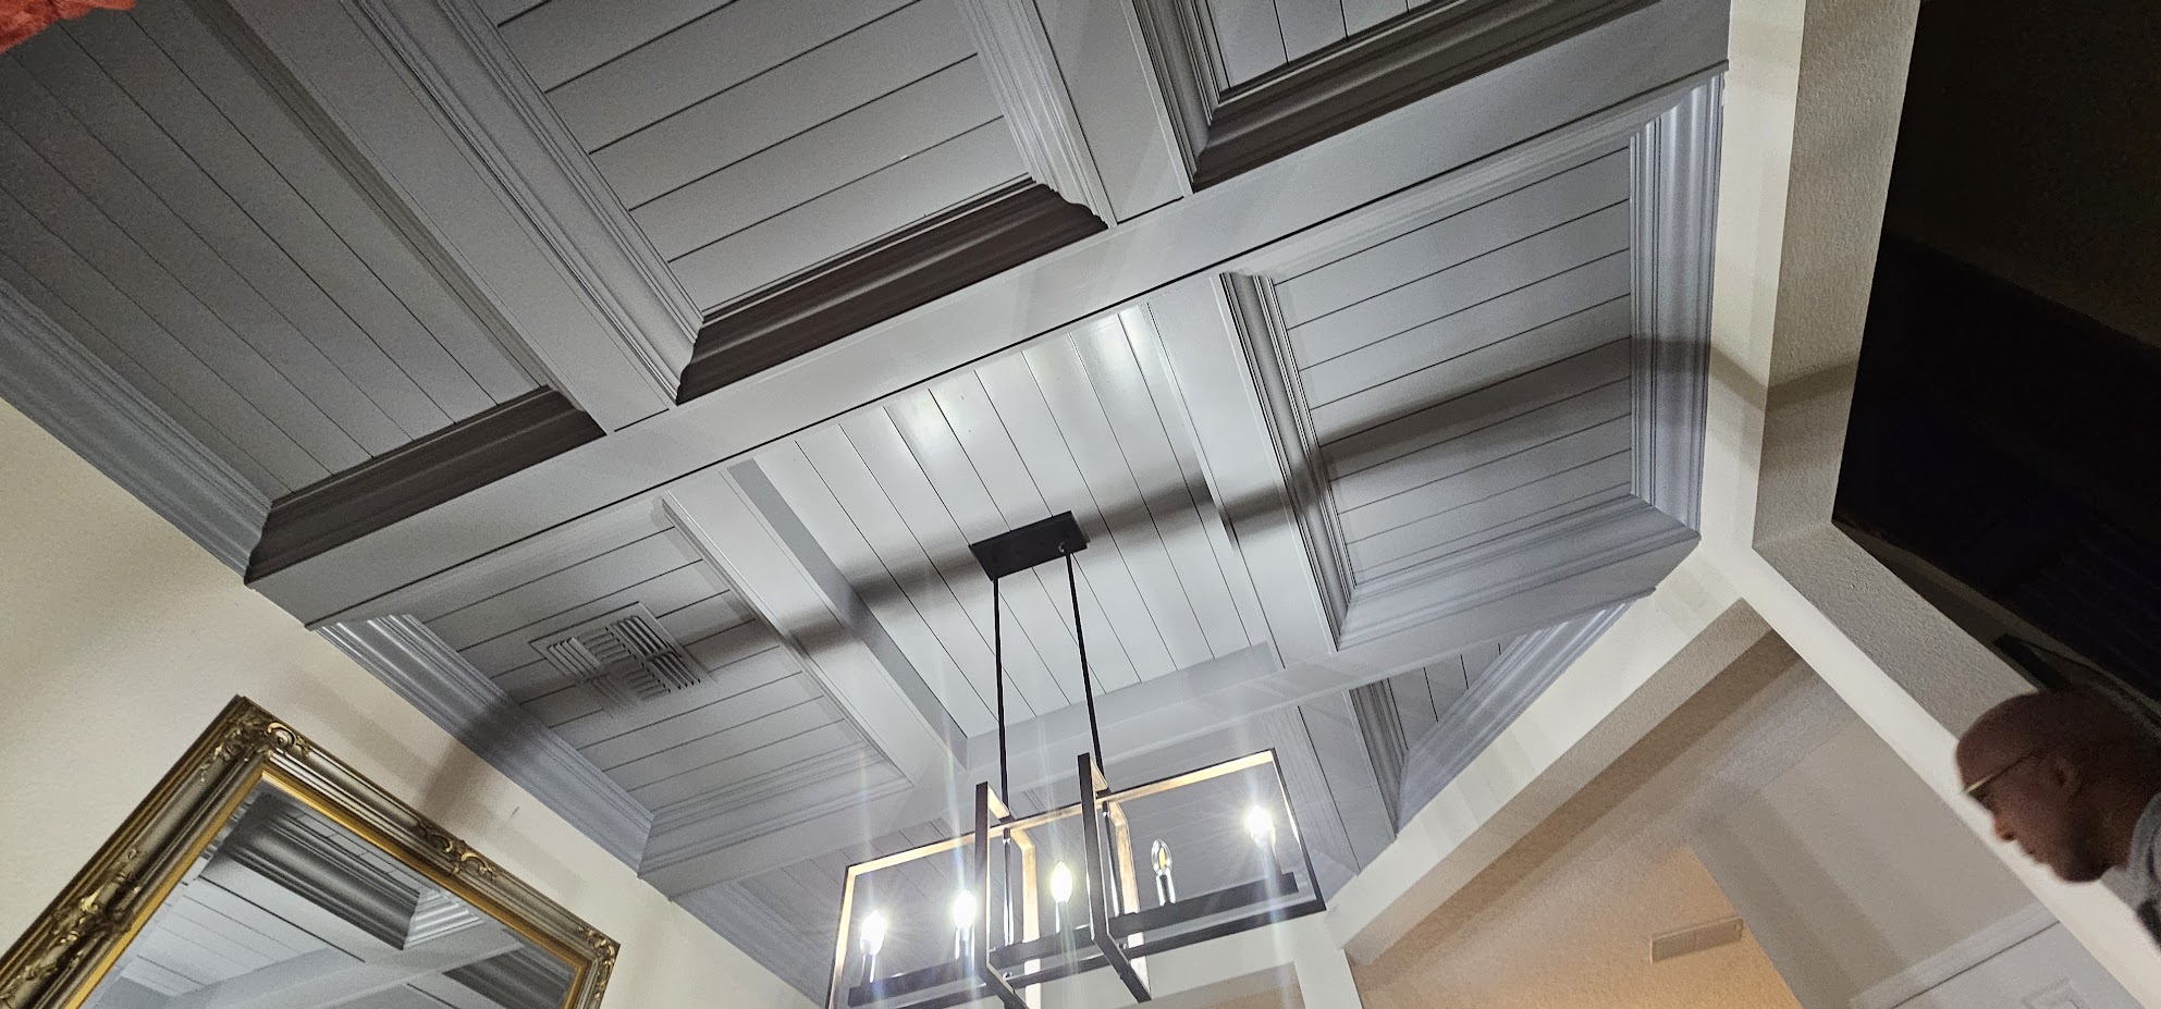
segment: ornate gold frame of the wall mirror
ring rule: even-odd
[[[233,823],[274,789],[568,968],[564,1009],[601,1005],[618,944],[246,698],[188,750],[0,957],[0,1009],[76,1009]]]

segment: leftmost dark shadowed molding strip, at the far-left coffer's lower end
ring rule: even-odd
[[[555,389],[534,389],[270,503],[249,581],[359,540],[603,434]]]

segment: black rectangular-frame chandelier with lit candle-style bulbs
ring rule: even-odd
[[[1100,968],[1145,1003],[1150,955],[1323,910],[1275,750],[1111,789],[1074,575],[1083,549],[1072,512],[970,544],[992,586],[998,786],[975,786],[975,830],[847,869],[828,1009],[1029,1009],[1039,985]],[[1014,817],[1001,586],[1059,557],[1089,752],[1074,758],[1076,802]]]

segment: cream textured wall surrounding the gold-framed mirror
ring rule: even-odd
[[[246,694],[622,942],[609,1007],[804,1007],[629,866],[0,404],[0,933]]]

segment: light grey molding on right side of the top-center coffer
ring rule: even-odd
[[[1117,223],[1035,0],[959,0],[959,9],[1029,175]]]

